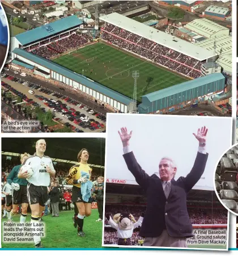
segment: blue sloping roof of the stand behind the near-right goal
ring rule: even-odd
[[[201,85],[208,84],[209,82],[215,82],[221,79],[224,79],[224,76],[222,75],[222,73],[215,73],[207,76],[202,76],[202,77],[199,77],[198,79],[182,82],[181,84],[173,85],[168,88],[159,90],[157,92],[148,93],[142,96],[142,98],[146,97],[150,102],[153,102],[165,97],[169,97],[173,94],[182,93],[185,90],[194,89]]]

